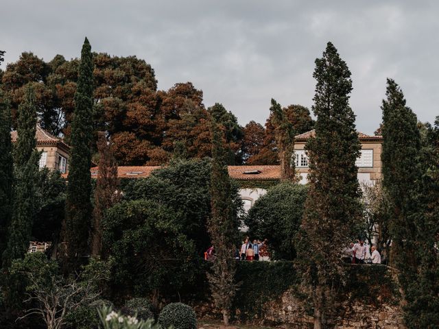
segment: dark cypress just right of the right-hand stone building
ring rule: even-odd
[[[383,187],[390,197],[391,262],[400,271],[399,283],[415,280],[416,212],[419,209],[420,134],[416,114],[405,106],[401,88],[388,79],[383,100]]]

